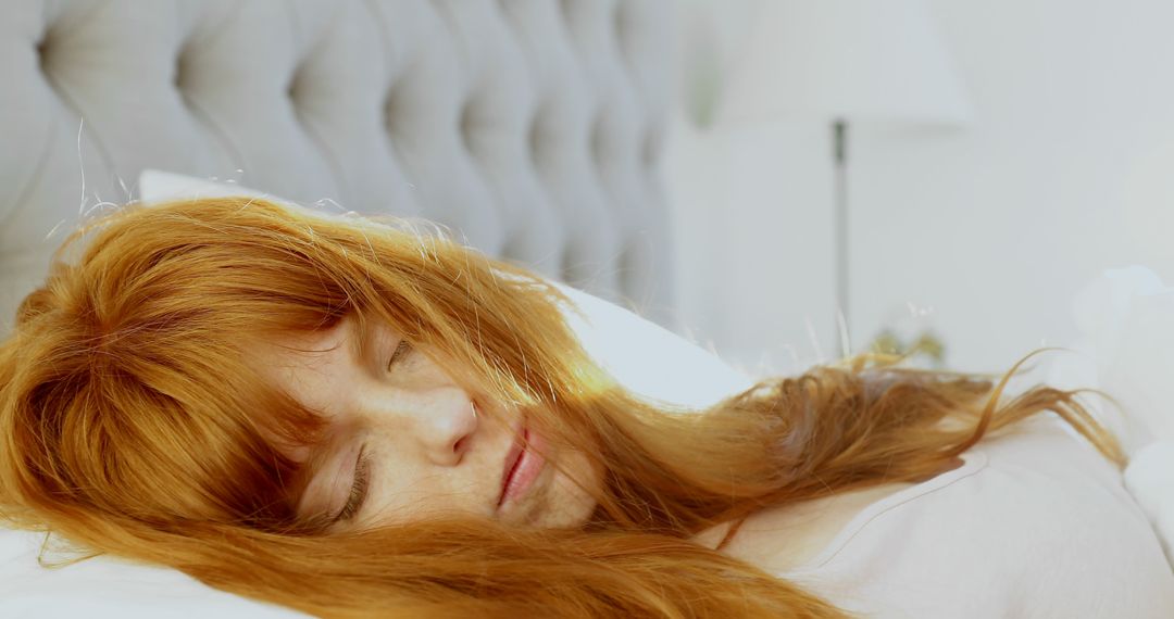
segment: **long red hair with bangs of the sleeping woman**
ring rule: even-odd
[[[402,224],[210,198],[131,204],[70,234],[0,345],[2,515],[325,617],[838,617],[690,538],[767,505],[922,479],[1044,410],[1122,460],[1073,392],[1004,401],[1003,383],[864,363],[668,410],[592,361],[556,287]],[[348,313],[527,407],[553,442],[592,445],[591,521],[299,522],[283,447],[313,441],[321,420],[244,351]]]

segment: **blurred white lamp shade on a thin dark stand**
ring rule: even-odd
[[[763,0],[722,123],[962,125],[972,117],[922,0]]]

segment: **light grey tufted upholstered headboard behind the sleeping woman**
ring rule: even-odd
[[[0,333],[147,168],[424,217],[666,324],[670,0],[18,0]]]

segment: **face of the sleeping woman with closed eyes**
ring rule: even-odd
[[[299,516],[337,530],[457,513],[544,528],[587,521],[594,501],[568,478],[599,484],[582,453],[559,451],[519,413],[471,396],[385,322],[367,331],[348,315],[251,351],[263,375],[329,420],[319,444],[289,454],[318,463]]]

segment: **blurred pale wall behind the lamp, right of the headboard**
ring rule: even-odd
[[[751,372],[826,360],[830,134],[798,123],[696,127],[708,114],[697,59],[711,59],[720,86],[756,5],[682,6],[682,96],[666,171],[684,320]],[[851,339],[930,328],[950,366],[999,370],[1072,341],[1071,299],[1100,270],[1141,263],[1174,281],[1174,80],[1162,61],[1174,57],[1174,4],[930,8],[977,117],[958,131],[853,128]]]

